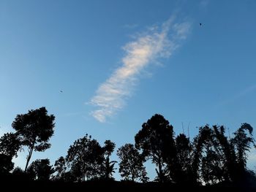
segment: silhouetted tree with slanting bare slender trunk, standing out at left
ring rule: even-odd
[[[53,136],[54,119],[53,115],[48,115],[45,107],[37,110],[29,110],[28,113],[17,115],[12,127],[17,131],[22,145],[27,146],[29,155],[27,155],[26,169],[29,165],[33,151],[45,151],[50,147],[48,143]]]

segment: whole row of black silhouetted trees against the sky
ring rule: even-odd
[[[162,115],[154,115],[135,135],[134,144],[117,150],[118,161],[110,159],[115,143],[106,140],[99,145],[86,134],[69,146],[67,155],[50,165],[48,158],[29,164],[34,151],[50,148],[54,115],[45,107],[17,115],[12,123],[15,132],[0,138],[0,174],[4,178],[20,180],[53,180],[83,182],[85,180],[114,180],[118,172],[123,180],[147,183],[146,161],[156,166],[159,183],[213,185],[221,183],[256,182],[255,173],[247,169],[247,153],[255,147],[252,126],[248,123],[227,137],[224,126],[202,126],[195,138],[175,135],[173,126]],[[24,147],[28,150],[25,169],[15,167],[12,158]]]

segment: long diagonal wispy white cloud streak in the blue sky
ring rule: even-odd
[[[91,115],[105,122],[124,107],[127,97],[138,80],[138,75],[152,61],[157,58],[169,57],[180,45],[181,40],[187,38],[190,23],[176,23],[172,17],[161,26],[148,28],[139,34],[134,41],[123,47],[124,58],[108,80],[99,85],[96,95],[90,103],[98,107]]]

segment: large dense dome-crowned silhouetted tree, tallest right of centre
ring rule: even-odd
[[[176,158],[173,126],[162,115],[154,115],[135,135],[135,146],[157,165],[158,180],[164,182],[166,163],[174,164]]]

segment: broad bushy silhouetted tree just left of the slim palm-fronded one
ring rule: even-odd
[[[104,150],[96,139],[86,134],[70,145],[66,157],[68,166],[77,174],[78,180],[98,177],[104,161]]]

